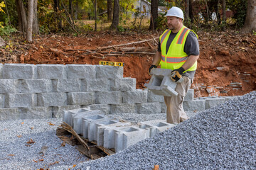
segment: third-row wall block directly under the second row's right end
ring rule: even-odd
[[[123,92],[123,103],[146,103],[148,91],[125,91]]]

